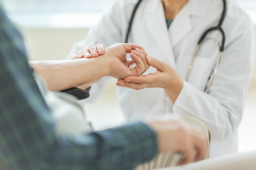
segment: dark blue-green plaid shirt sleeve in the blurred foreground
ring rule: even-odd
[[[54,126],[21,35],[0,8],[0,159],[8,170],[129,170],[157,152],[143,123],[75,137],[56,135]]]

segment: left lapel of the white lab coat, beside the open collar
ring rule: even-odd
[[[154,3],[154,5],[151,3]],[[161,1],[149,1],[145,11],[146,20],[144,25],[146,26],[146,29],[149,30],[151,35],[154,37],[154,40],[156,40],[157,45],[161,48],[161,51],[164,53],[164,57],[171,67],[176,68],[174,52],[172,50],[170,35],[164,16],[164,7],[161,4]]]

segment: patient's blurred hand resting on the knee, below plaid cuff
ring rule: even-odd
[[[181,152],[181,165],[200,161],[207,154],[207,137],[200,128],[188,125],[180,117],[163,116],[146,122],[156,132],[159,152]]]

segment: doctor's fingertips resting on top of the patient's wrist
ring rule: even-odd
[[[89,45],[88,47],[76,52],[72,57],[71,60],[87,58],[90,59],[92,57],[99,57],[100,55],[105,54],[105,47],[102,44],[97,45]]]

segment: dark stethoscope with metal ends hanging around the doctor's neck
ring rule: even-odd
[[[132,11],[132,17],[131,17],[131,20],[129,21],[129,26],[128,26],[128,30],[127,30],[127,35],[126,35],[126,38],[125,38],[125,43],[128,42],[129,40],[129,34],[131,33],[131,30],[132,30],[132,23],[134,21],[134,16],[137,12],[137,9],[139,8],[139,5],[142,3],[142,0],[139,0],[137,2],[137,4],[135,5],[134,7],[134,10]],[[223,24],[223,21],[225,19],[225,15],[227,13],[227,1],[226,0],[223,0],[223,13],[221,15],[221,18],[220,18],[220,21],[218,23],[218,26],[215,26],[215,27],[212,27],[212,28],[209,28],[208,30],[206,30],[205,33],[203,33],[203,35],[201,36],[201,38],[199,39],[198,41],[198,44],[196,46],[196,50],[193,52],[193,56],[192,56],[192,59],[191,59],[191,62],[188,66],[188,72],[186,74],[186,81],[188,81],[188,77],[189,77],[189,74],[191,73],[191,69],[192,69],[192,66],[193,66],[193,62],[195,60],[195,57],[198,53],[198,50],[200,49],[200,47],[207,41],[207,40],[215,40],[218,42],[218,47],[219,47],[219,55],[218,55],[218,59],[217,59],[217,63],[215,65],[215,68],[213,70],[213,74],[210,76],[209,80],[208,80],[208,86],[206,86],[206,90],[205,92],[208,93],[209,89],[210,89],[210,86],[213,84],[213,80],[218,72],[218,67],[220,65],[220,60],[221,60],[221,57],[222,57],[222,54],[223,54],[223,51],[224,51],[224,47],[225,47],[225,32],[223,30],[223,28],[221,28],[222,24]],[[210,33],[211,31],[213,30],[219,30],[221,35],[222,35],[222,42],[220,43],[217,39],[215,38],[206,38],[206,35],[208,33]]]

